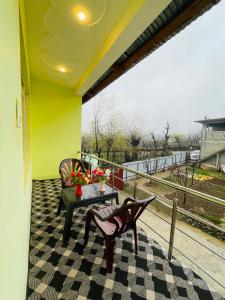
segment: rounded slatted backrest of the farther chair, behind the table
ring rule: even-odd
[[[62,188],[73,186],[71,173],[74,170],[85,171],[82,161],[76,158],[66,158],[59,165],[59,174],[61,177]]]

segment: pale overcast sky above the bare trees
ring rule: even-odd
[[[225,1],[95,98],[103,97],[113,98],[124,123],[137,116],[144,133],[160,133],[167,121],[171,132],[191,133],[201,130],[195,120],[225,117]],[[83,131],[90,126],[93,99],[83,105]]]

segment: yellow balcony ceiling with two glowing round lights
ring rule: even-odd
[[[83,95],[169,2],[27,0],[31,75]]]

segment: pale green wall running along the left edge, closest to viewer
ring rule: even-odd
[[[24,300],[28,267],[30,195],[24,188],[18,1],[0,1],[0,299]],[[31,182],[28,190],[31,188]]]

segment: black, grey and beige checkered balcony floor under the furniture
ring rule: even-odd
[[[112,274],[106,273],[103,238],[91,228],[83,249],[86,208],[74,212],[69,245],[62,246],[64,213],[56,217],[59,180],[33,182],[27,299],[222,299],[139,229],[135,257],[132,233],[117,240]]]

